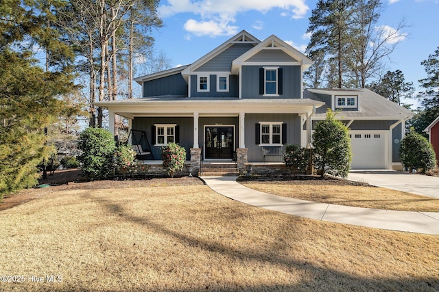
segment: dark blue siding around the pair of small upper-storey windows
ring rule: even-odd
[[[192,97],[237,97],[239,81],[237,75],[228,75],[228,92],[217,92],[217,75],[209,75],[209,92],[198,92],[197,75],[191,75],[191,96]]]

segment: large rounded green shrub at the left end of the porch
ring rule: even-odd
[[[102,178],[113,170],[115,140],[112,133],[102,128],[87,128],[80,134],[78,157],[82,163],[82,173],[91,178]]]

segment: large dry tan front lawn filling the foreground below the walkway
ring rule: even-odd
[[[439,237],[308,220],[203,185],[53,187],[0,211],[2,291],[438,291]]]

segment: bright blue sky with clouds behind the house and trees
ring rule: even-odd
[[[162,0],[158,11],[164,27],[154,31],[154,50],[171,59],[171,66],[191,64],[245,29],[263,40],[274,34],[303,51],[308,18],[317,0]],[[387,0],[378,25],[406,27],[385,70],[401,70],[418,86],[425,78],[420,62],[439,46],[439,0]]]

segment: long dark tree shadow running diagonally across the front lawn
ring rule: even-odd
[[[86,196],[90,198],[90,196]],[[307,261],[297,261],[293,258],[281,256],[286,250],[287,244],[282,243],[283,239],[276,241],[276,246],[261,248],[261,251],[254,250],[239,250],[233,246],[225,243],[211,242],[206,239],[199,239],[190,235],[179,233],[177,230],[172,230],[167,226],[156,224],[147,220],[145,217],[138,217],[127,213],[121,204],[111,202],[105,198],[96,198],[93,200],[102,204],[102,206],[110,213],[118,215],[127,220],[134,222],[141,226],[147,226],[157,233],[165,233],[179,241],[183,245],[197,247],[200,250],[209,251],[214,254],[222,254],[235,260],[237,258],[245,261],[256,261],[261,264],[268,263],[270,265],[281,265],[290,272],[299,271],[302,274],[302,281],[295,284],[271,284],[271,285],[246,285],[246,284],[227,284],[217,283],[216,279],[211,279],[209,285],[200,287],[200,284],[193,283],[191,291],[438,291],[439,278],[361,278],[355,277],[351,274],[345,274],[336,269],[322,268]],[[237,214],[239,215],[239,214]],[[297,220],[292,216],[292,221]],[[291,228],[289,226],[278,226],[279,233],[282,233],[283,228]],[[298,240],[300,232],[298,231]],[[279,235],[281,238],[281,235]],[[232,262],[232,261],[230,261]],[[275,282],[276,279],[273,280]],[[230,279],[233,282],[233,279]],[[78,287],[75,286],[77,289]],[[64,287],[65,288],[65,287]],[[160,291],[150,287],[149,289]],[[67,288],[68,289],[68,288]],[[86,287],[84,287],[86,290]],[[117,291],[117,290],[108,290]],[[163,290],[164,291],[164,290]],[[186,289],[165,289],[165,291],[187,291]]]

